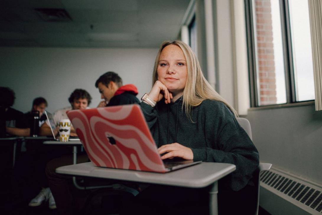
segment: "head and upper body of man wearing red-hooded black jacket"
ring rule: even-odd
[[[95,83],[95,87],[99,89],[101,101],[98,107],[115,106],[122,104],[139,103],[137,99],[137,88],[133,84],[123,85],[122,79],[114,72],[106,72],[102,74]]]

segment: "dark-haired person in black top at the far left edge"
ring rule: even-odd
[[[24,113],[11,108],[14,104],[14,91],[8,87],[0,87],[0,136],[6,134],[15,136],[29,136],[30,129]]]

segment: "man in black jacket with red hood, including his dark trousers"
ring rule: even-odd
[[[122,79],[117,73],[107,72],[102,74],[96,81],[95,86],[99,88],[101,98],[104,99],[99,107],[121,104],[139,103],[137,99],[137,88],[132,84],[122,86]],[[108,104],[107,104],[108,103]],[[77,163],[89,161],[87,155],[77,155]],[[58,213],[72,213],[72,196],[69,190],[68,180],[71,176],[56,173],[56,168],[73,163],[72,156],[66,155],[49,161],[46,166],[46,175],[52,195],[55,198]]]

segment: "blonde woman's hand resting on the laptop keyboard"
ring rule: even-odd
[[[159,154],[166,153],[161,156],[161,159],[167,159],[167,158],[174,158],[174,157],[180,157],[185,160],[193,160],[194,154],[192,150],[188,147],[185,147],[177,142],[163,145],[160,148],[158,148]]]

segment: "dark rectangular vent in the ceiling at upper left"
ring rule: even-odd
[[[45,22],[71,22],[71,17],[65,9],[35,8],[35,11]]]

